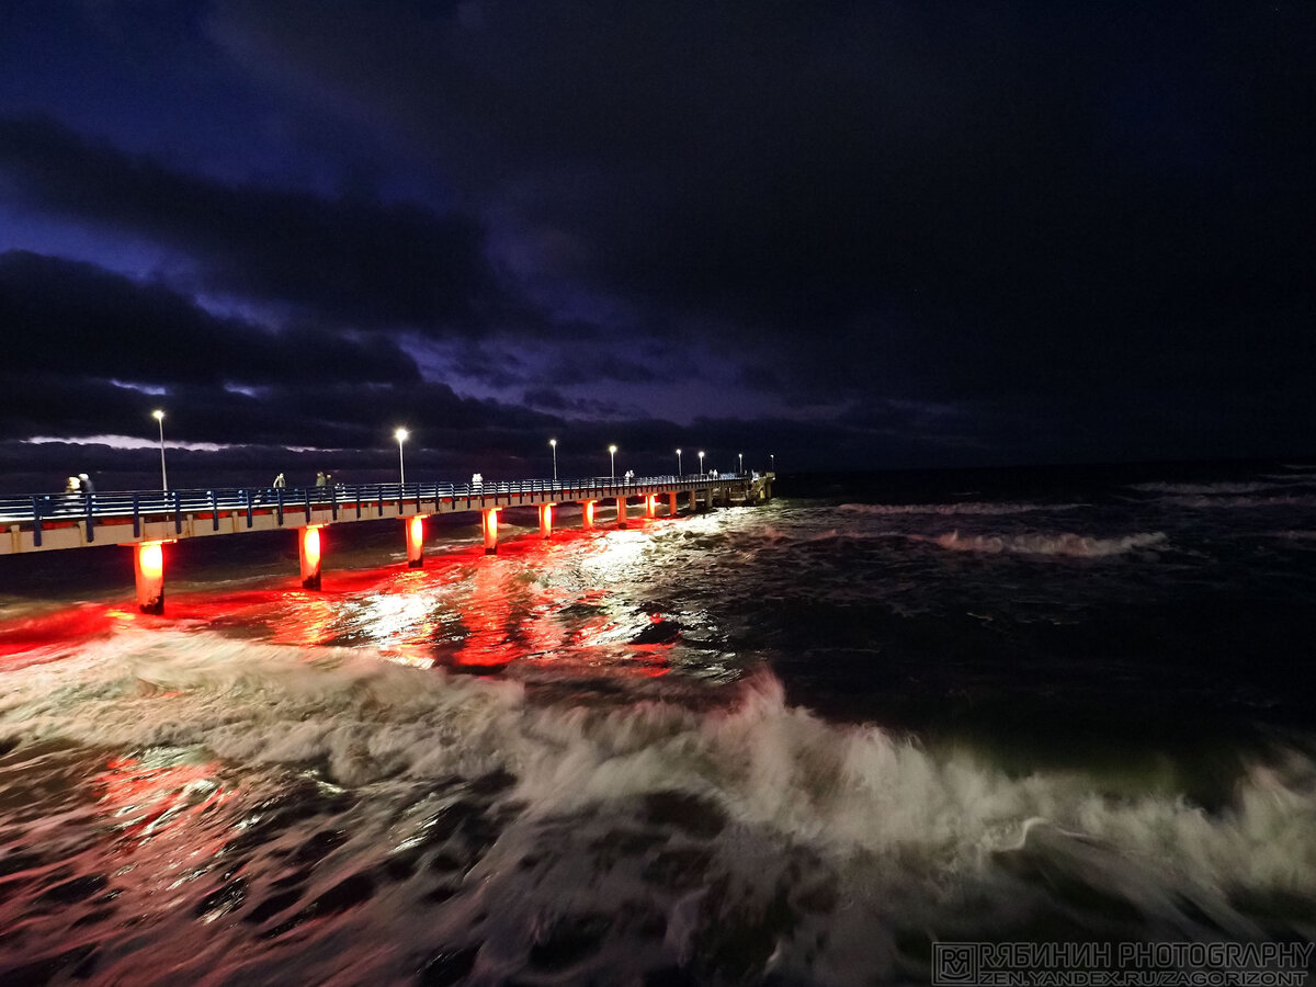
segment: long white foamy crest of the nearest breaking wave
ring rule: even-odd
[[[197,746],[237,765],[317,766],[347,786],[503,769],[540,819],[682,791],[737,825],[891,858],[920,880],[980,874],[1041,819],[1166,880],[1316,892],[1316,766],[1300,755],[1249,771],[1233,808],[1208,815],[1173,795],[1112,796],[1082,774],[1012,778],[829,724],[788,705],[766,674],[720,712],[540,707],[516,684],[361,651],[129,632],[7,672],[0,737]]]

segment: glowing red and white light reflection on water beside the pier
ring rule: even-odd
[[[513,517],[526,515],[534,524],[529,512],[533,508]],[[367,645],[421,667],[442,663],[496,672],[522,662],[550,674],[670,671],[675,642],[650,642],[644,634],[650,621],[662,617],[637,615],[608,586],[630,578],[633,544],[575,528],[558,529],[549,540],[513,529],[517,536],[496,557],[486,557],[476,542],[441,551],[425,570],[391,563],[330,571],[324,592],[303,590],[290,571],[265,586],[174,595],[164,617],[122,604],[79,604],[0,622],[0,662],[21,667],[63,658],[79,644],[111,637],[124,625],[149,630],[195,622],[221,634],[305,649]],[[570,569],[562,570],[563,565]],[[562,580],[563,571],[591,571],[599,586],[582,590]],[[615,615],[609,605],[617,607]],[[591,613],[594,608],[599,613]]]

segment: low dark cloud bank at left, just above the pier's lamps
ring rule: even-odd
[[[478,434],[541,416],[424,383],[378,336],[220,318],[161,284],[26,251],[0,254],[0,421],[9,436],[139,434],[168,407],[191,442],[370,446],[400,421]]]

